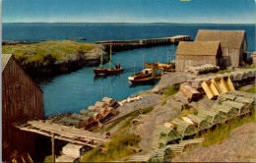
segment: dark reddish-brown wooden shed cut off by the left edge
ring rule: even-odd
[[[12,126],[43,119],[43,92],[12,54],[2,54],[2,138],[13,149],[34,152],[34,135]],[[4,150],[4,149],[3,149]]]

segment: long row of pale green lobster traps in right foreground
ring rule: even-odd
[[[193,142],[202,141],[202,139],[197,139],[198,141],[192,139],[176,144],[178,139],[195,136],[199,132],[209,130],[234,117],[250,113],[255,99],[255,94],[237,90],[221,93],[211,109],[199,110],[198,113],[176,118],[168,125],[158,126],[153,135],[152,148],[155,151],[164,149],[165,154],[162,160],[162,157],[158,156],[160,159],[155,159],[155,161],[169,161],[176,154],[183,152],[186,146],[193,146]]]

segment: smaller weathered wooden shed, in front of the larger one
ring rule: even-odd
[[[219,41],[181,41],[176,50],[176,71],[205,64],[220,66],[221,58],[222,48]]]

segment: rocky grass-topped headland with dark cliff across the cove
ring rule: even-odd
[[[101,50],[103,51],[103,63],[109,61],[109,54],[105,52],[105,47],[103,45],[98,45],[94,43],[88,43],[85,45],[91,46],[91,49],[88,51],[81,50],[84,44],[77,43],[74,41],[66,41],[66,44],[58,45],[54,47],[54,49],[45,50],[43,54],[46,55],[41,61],[28,61],[30,58],[37,55],[37,51],[32,48],[37,48],[38,45],[43,44],[46,48],[52,44],[52,42],[65,42],[65,41],[47,41],[47,42],[26,42],[26,41],[3,41],[3,51],[2,53],[12,53],[16,57],[16,59],[21,63],[21,65],[25,68],[26,72],[32,78],[45,78],[50,76],[56,76],[61,74],[70,73],[72,71],[79,70],[83,67],[91,67],[98,66],[100,64],[100,56]],[[73,46],[73,43],[76,45],[77,49],[71,49],[70,46]],[[49,45],[48,45],[49,44]],[[28,48],[28,46],[32,46],[32,48]],[[34,47],[33,47],[34,46]],[[78,47],[77,47],[78,46]],[[25,48],[26,47],[26,48]],[[17,48],[16,51],[10,51],[10,48]],[[29,50],[27,50],[27,48]],[[7,50],[6,50],[7,49]],[[24,49],[24,56],[21,57],[20,49]],[[32,54],[30,53],[30,50]],[[8,51],[9,50],[9,51]],[[63,53],[60,58],[54,57],[54,52],[59,50],[59,53]],[[62,51],[61,51],[62,50]],[[65,53],[68,50],[73,50],[72,53]],[[48,52],[49,51],[49,52]],[[40,52],[42,53],[42,52]]]

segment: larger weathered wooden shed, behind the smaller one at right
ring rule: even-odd
[[[195,41],[220,41],[226,67],[238,67],[247,60],[245,30],[199,29]]]

